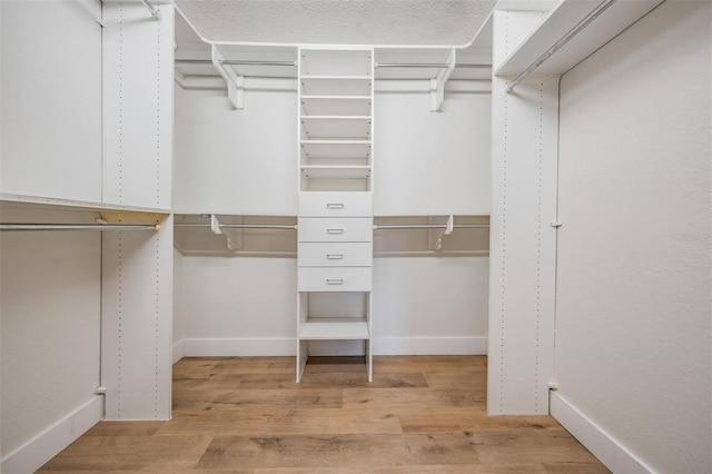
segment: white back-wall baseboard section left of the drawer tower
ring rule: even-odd
[[[294,338],[188,338],[182,340],[184,357],[294,356]]]

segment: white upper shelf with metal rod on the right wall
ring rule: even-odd
[[[561,76],[661,2],[562,0],[518,48],[495,65],[495,75],[516,76],[533,68],[528,72]]]

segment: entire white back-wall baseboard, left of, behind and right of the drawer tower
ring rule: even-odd
[[[318,340],[312,355],[363,355],[358,340]],[[174,363],[180,357],[294,356],[293,338],[188,338],[174,345]],[[376,337],[374,355],[484,355],[486,337]]]

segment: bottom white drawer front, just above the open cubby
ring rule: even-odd
[[[370,292],[372,269],[364,267],[301,267],[299,292]]]

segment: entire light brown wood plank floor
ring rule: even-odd
[[[607,473],[550,416],[488,417],[486,357],[184,358],[169,422],[102,422],[40,472]]]

